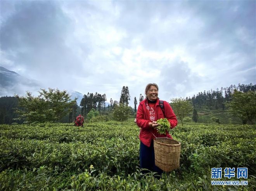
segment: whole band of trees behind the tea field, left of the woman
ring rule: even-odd
[[[89,120],[94,117],[106,119],[99,116],[100,113],[112,113],[118,121],[124,121],[134,114],[133,108],[128,106],[128,86],[123,86],[119,102],[111,98],[110,105],[106,107],[105,101],[106,94],[88,92],[78,106],[76,99],[71,100],[71,95],[66,90],[51,88],[41,89],[36,97],[31,92],[26,92],[25,96],[0,97],[0,123],[71,123],[78,114],[85,115]]]

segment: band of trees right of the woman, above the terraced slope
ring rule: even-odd
[[[224,90],[224,91],[223,91]],[[256,119],[256,85],[240,85],[236,87],[231,85],[227,88],[222,88],[219,91],[204,91],[190,98],[175,98],[171,99],[171,106],[178,119],[183,119],[193,110],[192,120],[197,122],[197,108],[206,107],[207,109],[227,109],[229,113],[237,116],[242,120],[243,124],[254,124]],[[220,123],[219,119],[216,119]]]

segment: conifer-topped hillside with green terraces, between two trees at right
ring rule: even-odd
[[[256,91],[256,85],[239,84],[230,85],[230,87],[221,87],[221,89],[208,90],[193,95],[192,98],[186,98],[191,101],[193,108],[198,114],[198,123],[218,123],[218,124],[242,124],[242,119],[229,112],[227,103],[231,100],[232,94],[237,90],[239,92]],[[193,112],[190,112],[185,122],[192,122]]]

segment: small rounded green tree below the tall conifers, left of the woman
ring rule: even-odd
[[[131,109],[126,104],[116,105],[113,109],[113,119],[116,121],[126,121],[131,114]]]

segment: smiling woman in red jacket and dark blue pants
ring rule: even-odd
[[[178,124],[178,121],[168,102],[161,101],[163,109],[161,108],[157,84],[147,84],[145,94],[146,98],[140,102],[136,116],[136,124],[140,127],[140,168],[149,169],[161,175],[163,171],[155,165],[153,140],[156,137],[172,137],[169,133],[167,135],[158,134],[157,126],[159,124],[156,121],[167,118],[171,129]]]

